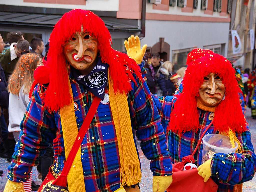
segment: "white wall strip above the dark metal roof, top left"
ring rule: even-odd
[[[29,6],[29,7],[63,8],[63,9],[87,9],[87,10],[98,10],[98,11],[118,11],[119,10],[119,0],[88,0],[86,1],[86,5],[24,3],[23,0],[0,0],[0,4]],[[0,7],[0,10],[1,10],[1,7]]]

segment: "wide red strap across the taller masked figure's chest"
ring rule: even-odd
[[[100,98],[98,98],[98,97],[94,98],[92,105],[86,115],[86,118],[84,119],[83,125],[77,135],[76,141],[74,142],[74,144],[72,146],[72,149],[71,149],[70,154],[67,158],[67,161],[63,167],[61,175],[54,181],[54,183],[53,183],[54,185],[59,185],[59,186],[63,186],[63,187],[67,186],[67,175],[68,175],[69,170],[74,162],[74,159],[79,150],[79,147],[82,144],[83,138],[85,137],[85,135],[89,129],[92,119],[93,119],[95,113],[97,112],[100,101],[101,101]]]

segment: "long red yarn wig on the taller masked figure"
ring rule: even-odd
[[[134,81],[133,73],[141,78],[136,62],[126,54],[111,48],[110,33],[100,17],[91,11],[72,10],[63,15],[50,36],[50,49],[47,58],[50,84],[45,92],[44,104],[52,111],[57,111],[70,103],[67,62],[63,54],[63,47],[77,31],[81,31],[82,25],[84,31],[98,40],[98,50],[102,62],[108,63],[110,66],[110,76],[113,79],[115,91],[129,92],[132,89],[131,80]],[[35,77],[35,79],[37,78]]]

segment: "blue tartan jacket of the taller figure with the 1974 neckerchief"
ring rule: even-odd
[[[139,82],[136,77],[135,79],[137,86],[132,82],[133,90],[127,95],[132,127],[137,130],[136,136],[141,140],[144,155],[151,160],[153,175],[172,175],[161,117],[146,82]],[[76,82],[72,74],[70,82],[76,121],[80,129],[95,96]],[[28,180],[31,167],[37,164],[38,157],[45,153],[51,143],[54,143],[55,149],[52,171],[58,174],[63,169],[66,158],[60,114],[50,113],[43,108],[41,94],[45,89],[44,86],[35,87],[34,95],[20,124],[22,131],[12,164],[8,168],[8,178],[14,182]],[[105,92],[108,92],[108,87]],[[120,188],[119,149],[110,104],[100,103],[98,113],[95,114],[83,139],[81,150],[86,191],[112,192]]]

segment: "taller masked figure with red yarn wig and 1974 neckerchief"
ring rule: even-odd
[[[154,191],[167,189],[172,164],[161,117],[137,66],[146,46],[141,50],[138,37],[129,41],[134,60],[111,48],[110,33],[94,13],[63,15],[50,36],[47,65],[35,71],[6,192],[23,191],[50,143],[54,164],[39,191],[140,191],[132,128],[151,160]]]

